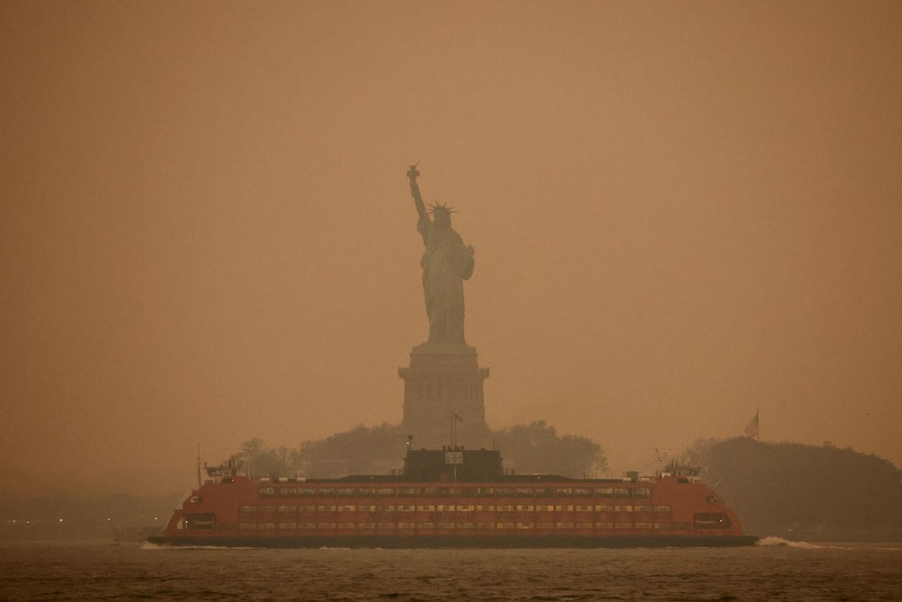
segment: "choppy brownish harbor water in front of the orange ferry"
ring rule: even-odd
[[[902,544],[260,550],[0,543],[2,599],[897,600]]]

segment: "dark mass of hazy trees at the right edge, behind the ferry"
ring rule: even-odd
[[[698,441],[685,459],[704,467],[749,533],[902,529],[902,471],[884,458],[735,438]]]

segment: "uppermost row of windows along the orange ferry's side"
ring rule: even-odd
[[[261,497],[651,497],[649,487],[260,487]]]

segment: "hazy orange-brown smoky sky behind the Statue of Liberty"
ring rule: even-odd
[[[405,171],[493,428],[902,465],[902,4],[0,3],[0,457],[189,486],[400,421]],[[503,450],[502,450],[503,451]],[[8,485],[5,485],[8,486]]]

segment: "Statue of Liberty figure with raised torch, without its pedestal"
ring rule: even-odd
[[[464,245],[464,240],[451,228],[454,208],[429,205],[427,210],[419,195],[416,165],[410,166],[407,176],[410,178],[410,194],[419,215],[417,230],[423,236],[423,245],[426,245],[419,264],[423,268],[429,338],[420,348],[438,346],[471,350],[464,337],[463,281],[473,275],[473,245]]]

